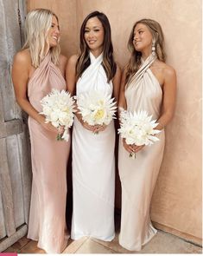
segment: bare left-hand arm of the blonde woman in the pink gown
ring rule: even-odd
[[[57,132],[57,129],[51,123],[45,123],[45,117],[39,115],[35,108],[30,104],[27,97],[27,86],[29,82],[29,70],[31,69],[31,59],[28,52],[18,52],[14,58],[12,68],[12,80],[14,84],[16,102],[18,105],[35,121],[38,121],[49,131]]]

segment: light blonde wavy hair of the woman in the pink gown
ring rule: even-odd
[[[48,30],[52,26],[52,18],[55,16],[59,22],[58,16],[51,10],[35,9],[31,10],[25,20],[25,38],[26,41],[22,49],[29,49],[32,65],[38,68],[41,61],[48,54],[51,54],[51,60],[55,65],[59,64],[60,45],[49,49]]]

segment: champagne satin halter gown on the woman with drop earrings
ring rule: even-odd
[[[125,89],[125,98],[128,110],[146,110],[157,120],[161,112],[162,88],[149,69],[155,58],[149,56],[142,62]],[[160,141],[145,146],[136,154],[136,159],[129,157],[121,139],[119,141],[118,168],[122,184],[119,243],[130,251],[141,250],[156,233],[150,221],[149,206],[162,164],[164,131],[157,137]]]

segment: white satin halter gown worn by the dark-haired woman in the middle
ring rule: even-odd
[[[112,95],[101,65],[102,54],[90,53],[91,65],[76,85],[76,95],[104,90]],[[115,130],[113,121],[105,131],[94,135],[77,118],[73,124],[73,218],[71,238],[90,236],[99,240],[114,238]]]

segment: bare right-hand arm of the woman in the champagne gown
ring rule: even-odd
[[[155,129],[162,129],[174,116],[176,99],[176,74],[173,68],[167,66],[163,70],[163,100],[161,116],[157,120],[159,125]]]

